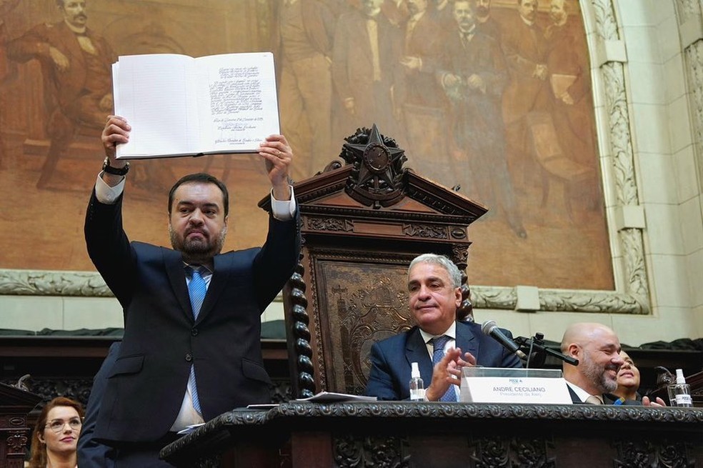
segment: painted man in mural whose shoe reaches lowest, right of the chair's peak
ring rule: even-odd
[[[493,37],[476,30],[470,0],[454,1],[454,27],[444,38],[439,76],[450,105],[450,154],[466,174],[469,196],[502,211],[518,237],[527,237],[515,200],[505,152],[501,97],[508,71]]]

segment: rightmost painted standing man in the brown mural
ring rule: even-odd
[[[574,0],[575,1],[575,0]],[[571,164],[564,164],[564,174],[557,174],[567,184],[569,199],[581,199],[596,209],[600,195],[594,141],[593,99],[589,74],[586,33],[571,18],[576,5],[572,0],[552,0],[544,37],[547,39],[549,79],[545,94],[550,104],[554,135]],[[570,202],[569,205],[570,206]]]

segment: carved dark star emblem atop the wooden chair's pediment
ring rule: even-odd
[[[404,150],[386,146],[376,124],[371,128],[367,144],[345,143],[344,146],[364,162],[359,167],[359,185],[363,186],[374,178],[377,180],[372,186],[376,188],[379,188],[381,180],[385,181],[387,186],[393,185],[392,169],[394,163],[403,156]]]

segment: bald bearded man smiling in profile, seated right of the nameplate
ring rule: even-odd
[[[612,329],[597,323],[572,324],[562,337],[562,353],[579,360],[577,366],[567,362],[562,365],[572,402],[614,403],[607,394],[617,389],[617,373],[624,361],[620,355],[620,340]],[[642,404],[666,406],[661,398],[650,402],[644,397]]]

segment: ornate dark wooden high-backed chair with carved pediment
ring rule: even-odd
[[[295,184],[304,242],[284,289],[294,397],[362,393],[372,344],[413,325],[411,260],[434,252],[465,270],[468,225],[487,211],[404,169],[404,151],[375,125],[346,141],[346,164],[332,163]],[[465,274],[463,283],[457,314],[472,319]]]

